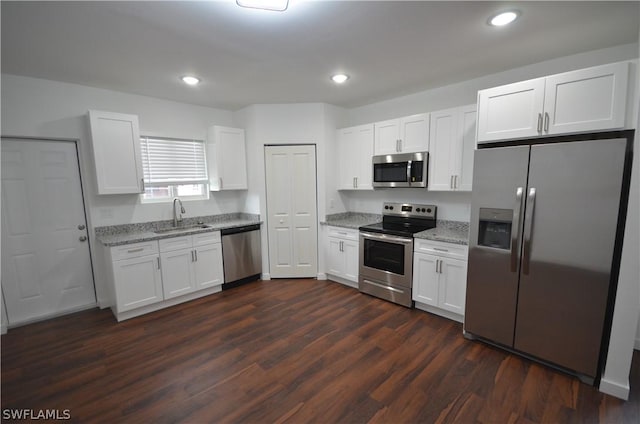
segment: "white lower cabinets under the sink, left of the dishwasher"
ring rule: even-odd
[[[220,232],[108,248],[118,321],[221,290]]]

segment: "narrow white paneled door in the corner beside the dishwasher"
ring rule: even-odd
[[[265,162],[271,277],[316,277],[316,148],[266,146]]]

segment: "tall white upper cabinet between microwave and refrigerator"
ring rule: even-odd
[[[476,105],[431,112],[429,190],[471,190]]]

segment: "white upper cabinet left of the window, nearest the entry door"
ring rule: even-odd
[[[89,111],[98,194],[144,191],[136,115]]]

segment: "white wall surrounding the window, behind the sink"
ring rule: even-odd
[[[93,153],[87,111],[106,110],[138,115],[144,135],[205,139],[210,125],[232,125],[230,111],[187,105],[110,90],[15,75],[2,75],[2,135],[76,140],[87,209],[89,241],[95,246],[93,229],[114,225],[171,219],[169,203],[141,204],[134,195],[96,195]],[[185,202],[185,216],[238,212],[244,192],[213,193],[207,201]],[[100,255],[92,249],[96,270],[103,269]],[[98,303],[108,306],[104,272],[95,273]]]

